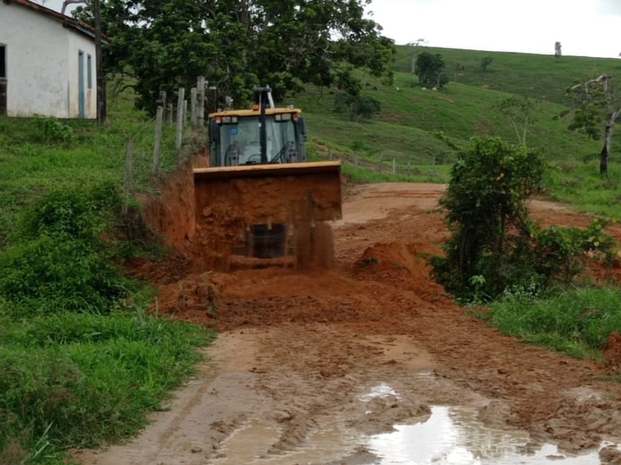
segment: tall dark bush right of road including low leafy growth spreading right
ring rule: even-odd
[[[432,274],[460,299],[494,299],[507,288],[539,290],[571,281],[587,256],[610,261],[616,242],[605,223],[539,228],[524,201],[542,177],[538,154],[501,139],[472,139],[451,172],[440,204],[451,237]]]

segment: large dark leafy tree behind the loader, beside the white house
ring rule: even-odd
[[[114,42],[107,66],[131,73],[139,106],[206,76],[239,105],[257,85],[274,98],[304,83],[332,86],[354,69],[392,79],[393,40],[365,17],[368,0],[108,0],[103,23]],[[81,8],[81,18],[92,20]]]

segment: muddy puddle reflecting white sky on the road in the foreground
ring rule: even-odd
[[[390,384],[381,383],[358,399],[368,402],[390,396],[398,399]],[[478,414],[472,406],[434,405],[424,420],[395,424],[392,431],[373,435],[350,428],[347,418],[340,418],[310,432],[303,445],[286,452],[266,446],[279,442],[282,430],[253,419],[222,443],[214,464],[600,464],[597,450],[579,456],[564,454],[555,445],[533,443],[528,432],[484,425]]]

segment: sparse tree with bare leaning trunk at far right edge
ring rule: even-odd
[[[574,102],[570,130],[584,131],[591,139],[600,137],[604,126],[604,144],[600,151],[600,174],[608,172],[608,155],[613,138],[613,127],[621,114],[621,95],[615,95],[608,74],[586,79],[567,91]]]

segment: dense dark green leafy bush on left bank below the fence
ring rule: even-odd
[[[59,310],[108,312],[128,281],[102,239],[116,188],[51,192],[26,208],[14,245],[0,252],[0,296],[13,316]]]

